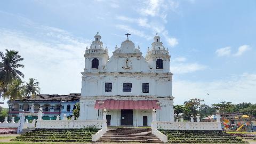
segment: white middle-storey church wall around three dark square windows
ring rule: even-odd
[[[82,81],[82,97],[111,95],[151,95],[155,97],[171,97],[171,76],[145,74],[101,74],[90,75]],[[105,83],[112,83],[111,92],[105,92]],[[123,92],[123,83],[132,83],[131,92]],[[149,93],[142,92],[142,83],[149,83]]]

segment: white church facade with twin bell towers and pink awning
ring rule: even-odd
[[[150,126],[152,111],[157,121],[174,122],[170,55],[156,34],[146,57],[127,39],[109,58],[101,36],[94,36],[84,54],[80,120],[102,119],[107,125]]]

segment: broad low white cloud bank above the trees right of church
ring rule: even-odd
[[[212,82],[173,81],[175,105],[191,98],[204,99],[205,103],[231,101],[233,103],[256,103],[256,74],[234,75]],[[206,94],[209,93],[209,95]]]

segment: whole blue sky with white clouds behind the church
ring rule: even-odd
[[[158,33],[171,55],[174,105],[256,103],[255,15],[253,0],[6,0],[0,51],[19,51],[23,81],[36,78],[41,94],[81,93],[83,54],[97,31],[110,55],[130,33],[145,56]]]

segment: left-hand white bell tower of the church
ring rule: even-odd
[[[107,47],[105,49],[103,48],[99,32],[94,36],[94,41],[92,42],[90,49],[86,47],[84,59],[84,72],[98,73],[99,71],[103,71],[109,56]]]

